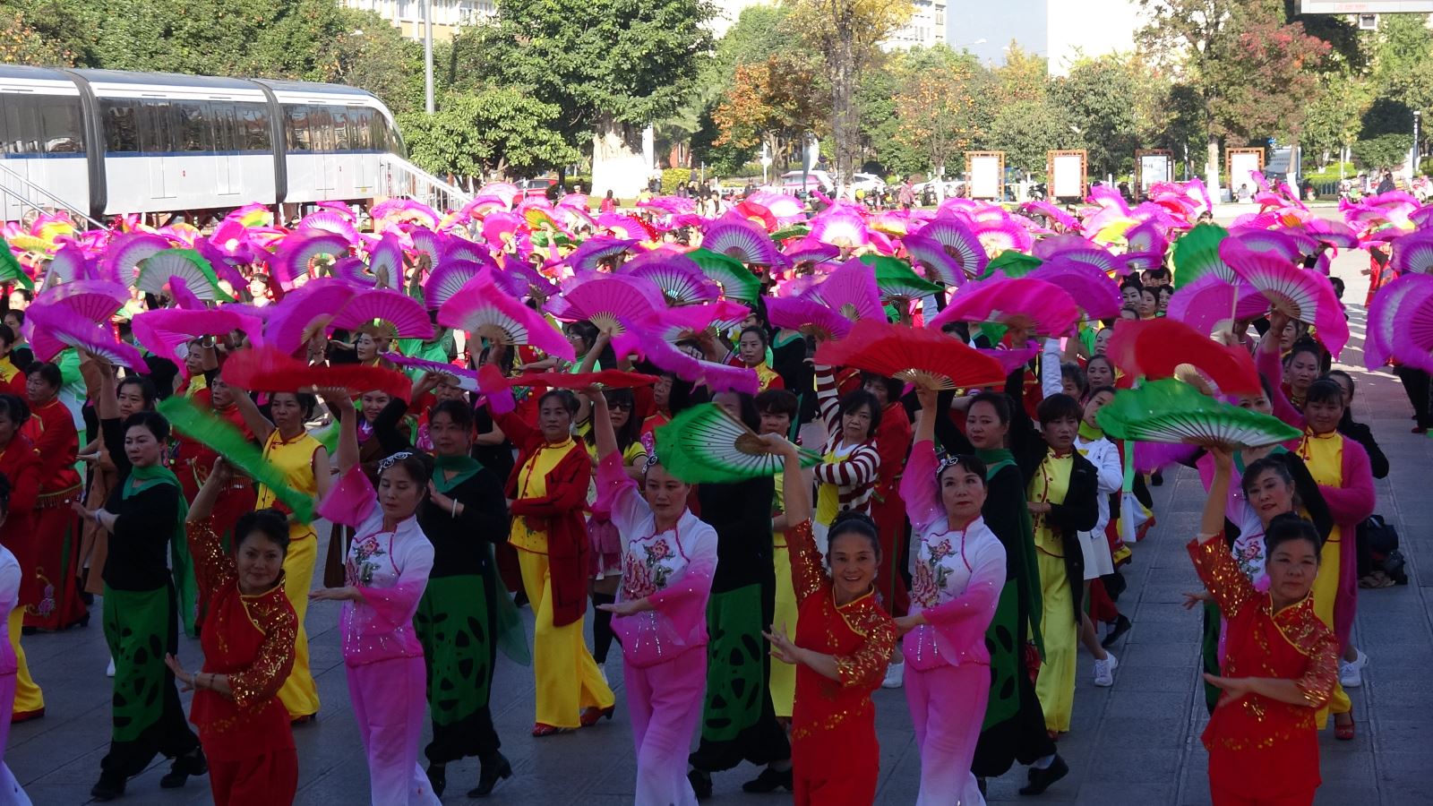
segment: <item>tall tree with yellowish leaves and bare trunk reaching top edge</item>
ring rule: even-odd
[[[860,145],[856,105],[861,73],[877,59],[877,44],[911,14],[910,0],[791,0],[794,24],[821,53],[831,86],[831,139],[835,176],[850,181]]]

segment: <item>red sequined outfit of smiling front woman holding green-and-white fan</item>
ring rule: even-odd
[[[870,806],[876,802],[880,746],[871,693],[886,677],[896,622],[876,591],[835,604],[831,579],[811,536],[811,522],[787,529],[798,618],[795,644],[835,655],[841,680],[797,665],[791,710],[791,763],[797,806]]]

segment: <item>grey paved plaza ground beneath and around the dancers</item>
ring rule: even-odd
[[[1367,281],[1360,271],[1364,252],[1336,261],[1348,291],[1346,301],[1361,303]],[[1397,525],[1409,562],[1407,587],[1361,591],[1356,643],[1370,655],[1364,684],[1351,690],[1357,739],[1334,741],[1330,727],[1320,737],[1324,784],[1320,805],[1404,806],[1429,803],[1427,773],[1433,770],[1433,496],[1426,473],[1433,469],[1433,442],[1410,433],[1409,403],[1397,379],[1361,366],[1363,308],[1351,307],[1354,338],[1340,364],[1358,381],[1357,420],[1370,425],[1391,462],[1389,479],[1377,482],[1379,512]],[[1188,470],[1166,472],[1154,488],[1158,526],[1135,546],[1125,571],[1129,589],[1121,610],[1134,630],[1113,648],[1119,657],[1112,688],[1091,683],[1089,655],[1080,653],[1073,726],[1059,743],[1070,774],[1046,795],[1020,797],[1023,769],[990,782],[993,803],[1060,802],[1101,806],[1208,803],[1207,754],[1199,731],[1207,714],[1197,686],[1199,615],[1181,605],[1182,592],[1198,581],[1184,552],[1197,526],[1204,493]],[[320,529],[327,539],[327,528]],[[320,556],[324,556],[320,546]],[[315,579],[315,584],[318,581]],[[320,719],[295,729],[299,754],[298,803],[355,806],[368,802],[368,772],[353,723],[338,644],[338,604],[310,608],[311,663],[318,678]],[[532,627],[530,610],[523,610]],[[590,618],[589,618],[590,624]],[[99,618],[87,628],[24,641],[34,678],[44,687],[47,714],[16,726],[6,760],[37,805],[77,805],[89,800],[99,760],[109,741],[110,681]],[[199,665],[199,643],[182,640],[188,668]],[[493,803],[618,806],[632,803],[635,757],[620,693],[620,651],[613,648],[609,677],[618,687],[616,719],[575,734],[536,740],[532,671],[500,655],[493,684],[493,717],[503,753],[514,776],[494,790]],[[188,694],[185,696],[188,703]],[[876,696],[881,741],[878,803],[909,805],[916,799],[920,759],[903,691]],[[160,790],[168,763],[155,763],[129,782],[123,802],[181,806],[209,803],[208,779],[191,779],[181,790]],[[785,793],[751,796],[741,782],[757,769],[742,767],[715,776],[714,805],[785,803]],[[1420,777],[1424,776],[1424,777]],[[446,803],[464,803],[477,779],[477,762],[449,766]]]

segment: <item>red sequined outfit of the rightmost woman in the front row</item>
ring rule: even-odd
[[[1320,784],[1314,714],[1338,680],[1338,643],[1314,614],[1313,597],[1273,612],[1270,595],[1254,589],[1222,539],[1189,541],[1188,549],[1228,624],[1224,675],[1295,680],[1305,700],[1219,696],[1202,737],[1214,802],[1228,793],[1232,802],[1313,803]]]

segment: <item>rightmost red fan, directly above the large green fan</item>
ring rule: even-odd
[[[1189,366],[1228,394],[1257,394],[1262,389],[1248,351],[1219,344],[1172,318],[1119,323],[1106,354],[1119,369],[1149,380],[1176,377],[1184,374],[1181,367]]]

